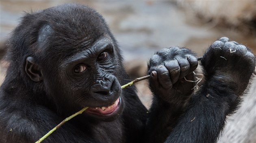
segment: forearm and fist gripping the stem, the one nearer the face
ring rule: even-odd
[[[165,48],[150,59],[148,67],[154,100],[145,139],[152,143],[163,142],[189,103],[194,84],[184,77],[193,80],[197,58],[186,48]]]

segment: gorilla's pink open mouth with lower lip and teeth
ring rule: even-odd
[[[89,107],[87,110],[96,114],[107,115],[107,114],[113,113],[117,109],[118,104],[119,104],[119,98],[111,105],[104,106],[104,107]]]

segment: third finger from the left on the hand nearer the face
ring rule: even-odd
[[[189,61],[187,60],[187,58],[184,59],[181,57],[176,57],[175,59],[178,61],[179,65],[180,65],[180,78],[179,79],[182,79],[189,72],[189,69],[190,69]]]

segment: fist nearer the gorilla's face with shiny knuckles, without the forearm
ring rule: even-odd
[[[195,53],[187,48],[164,48],[150,58],[148,73],[150,88],[156,98],[182,106],[193,92],[193,71],[198,61]]]

